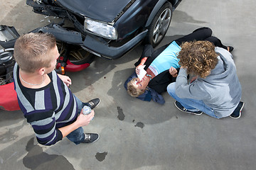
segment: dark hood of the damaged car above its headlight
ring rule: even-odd
[[[131,0],[57,0],[64,8],[98,21],[111,23]]]

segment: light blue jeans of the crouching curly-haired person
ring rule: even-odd
[[[181,105],[190,110],[199,110],[202,111],[203,113],[206,113],[207,115],[210,115],[213,118],[220,118],[218,116],[215,115],[213,108],[210,108],[209,106],[206,106],[205,103],[203,103],[203,101],[201,100],[196,100],[193,98],[179,98],[176,93],[175,93],[175,82],[169,84],[169,86],[167,86],[167,91],[168,94],[170,96],[172,96],[176,101],[178,101],[179,103],[181,103]]]

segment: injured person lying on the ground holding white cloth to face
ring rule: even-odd
[[[171,41],[169,44],[159,47],[157,50],[151,45],[145,45],[142,57],[134,64],[136,69],[124,83],[124,87],[130,96],[137,97],[143,101],[156,101],[164,104],[161,94],[167,90],[167,86],[176,81],[180,65],[178,64],[178,52],[183,42],[193,40],[207,40],[213,42],[216,47],[223,47],[230,52],[233,47],[225,46],[218,38],[212,36],[210,28],[198,28],[188,35]],[[139,79],[139,67],[144,65],[146,75]]]

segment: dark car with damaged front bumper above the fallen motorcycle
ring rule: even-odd
[[[63,21],[34,31],[53,33],[57,40],[80,45],[100,57],[121,57],[139,42],[155,47],[166,34],[181,0],[26,0],[33,11]]]

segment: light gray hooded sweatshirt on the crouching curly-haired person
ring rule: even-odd
[[[225,117],[238,106],[242,90],[233,56],[220,47],[215,47],[215,52],[219,55],[219,61],[206,79],[198,77],[188,84],[186,69],[180,69],[176,79],[176,95],[179,98],[202,100],[213,108],[216,116]]]

